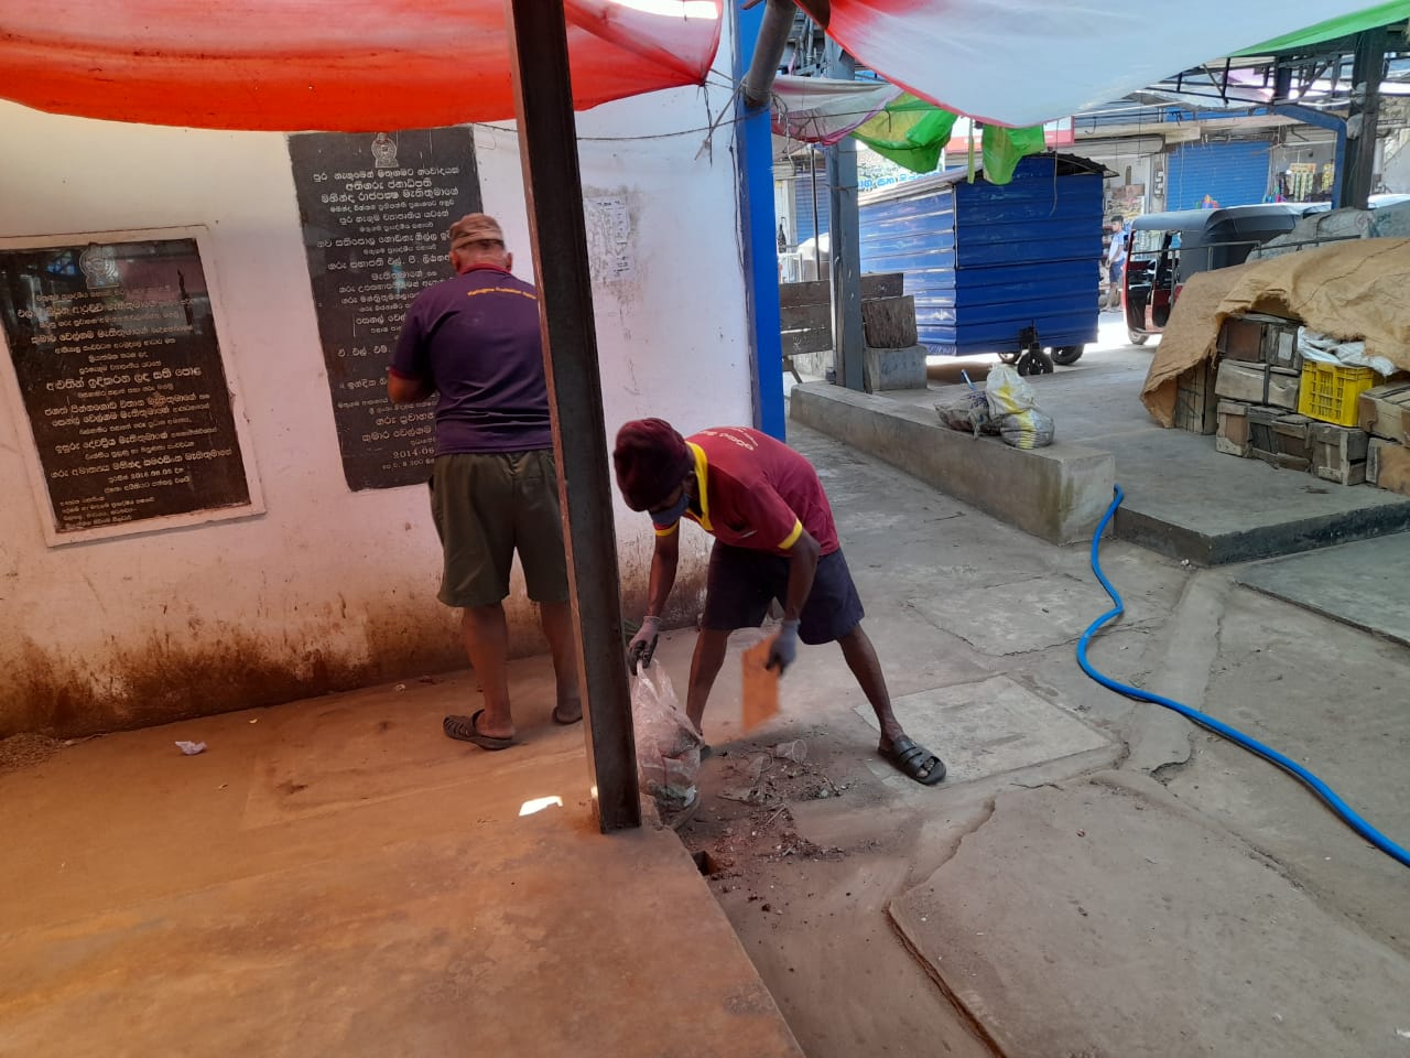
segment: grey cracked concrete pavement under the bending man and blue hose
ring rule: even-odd
[[[1372,851],[1273,766],[1177,714],[1087,679],[1073,646],[1110,604],[1090,574],[1084,546],[1059,549],[1035,540],[809,430],[791,427],[790,442],[818,466],[833,501],[867,608],[866,628],[898,715],[942,756],[963,763],[963,774],[933,790],[888,770],[874,753],[864,698],[835,647],[804,647],[781,684],[783,715],[746,736],[735,705],[737,663],[726,663],[705,717],[706,739],[723,753],[702,769],[706,801],[682,838],[692,849],[729,861],[712,886],[812,1058],[922,1047],[991,1055],[1005,1052],[1005,1040],[1026,1041],[1008,1051],[1015,1058],[1255,1054],[1261,1051],[1249,1041],[1256,1034],[1232,1013],[1234,1006],[1251,1003],[1262,1020],[1273,1013],[1286,1019],[1273,1023],[1282,1035],[1269,1037],[1283,1052],[1313,1052],[1299,1050],[1307,1045],[1327,1055],[1410,1054],[1404,1040],[1366,1021],[1375,1004],[1358,1006],[1358,1021],[1314,1003],[1311,1010],[1342,1026],[1340,1034],[1304,1027],[1287,1014],[1287,1002],[1269,992],[1294,982],[1311,987],[1306,973],[1316,961],[1307,962],[1308,952],[1286,921],[1265,923],[1259,916],[1266,908],[1241,903],[1266,887],[1269,896],[1259,899],[1277,914],[1316,914],[1317,944],[1328,965],[1341,965],[1342,955],[1371,958],[1369,951],[1390,968],[1387,980],[1400,980],[1410,959],[1404,913],[1410,872]],[[1410,750],[1403,693],[1410,686],[1410,649],[1244,588],[1237,583],[1239,567],[1183,567],[1120,540],[1105,542],[1101,557],[1128,614],[1094,639],[1090,657],[1100,670],[1208,711],[1308,762],[1375,825],[1400,842],[1410,839],[1410,769],[1403,766]],[[684,687],[692,640],[688,632],[673,633],[657,655],[677,687]],[[962,719],[964,731],[986,732],[994,745],[974,752],[953,745],[953,735],[946,743],[945,732],[962,729]],[[1083,742],[1086,736],[1101,745]],[[777,820],[719,800],[718,791],[736,782],[735,769],[744,760],[795,738],[808,743],[808,765],[843,787],[842,796],[790,801]],[[1112,784],[1134,793],[1122,798],[1090,793]],[[1135,827],[1145,810],[1167,813],[1179,827],[1163,838],[1151,831],[1144,841],[1155,844],[1142,846],[1141,855],[1104,846],[1103,856],[1091,856],[1086,837],[1028,832],[1008,820],[1046,818],[1041,805],[1059,810],[1069,803],[1104,805],[1100,813],[1090,810],[1098,813],[1097,829],[1105,825],[1110,834]],[[1121,824],[1111,811],[1135,814]],[[995,827],[1003,841],[984,837]],[[780,856],[776,846],[783,848],[785,831],[842,855]],[[1132,972],[1129,986],[1121,985],[1120,973],[1103,978],[1103,987],[1114,989],[1110,995],[1084,990],[1096,971],[1070,965],[1063,951],[1076,937],[1083,951],[1090,944],[1091,952],[1108,959],[1131,955],[1136,935],[1120,927],[1121,908],[1151,910],[1138,897],[1159,883],[1160,872],[1148,869],[1148,861],[1162,859],[1162,839],[1214,849],[1203,865],[1180,865],[1206,886],[1206,911],[1191,893],[1167,894],[1186,918],[1153,906],[1169,958],[1186,951],[1176,942],[1182,930],[1208,927],[1189,916],[1211,916],[1224,923],[1222,932],[1211,935],[1237,940],[1238,947],[1200,955],[1200,965],[1207,973],[1242,975],[1239,982],[1255,983],[1231,985],[1225,993],[1231,1010],[1211,1017],[1187,1002],[1217,1003],[1218,995],[1186,982],[1187,995],[1169,1000],[1176,1013],[1163,1023],[1173,1026],[1173,1035],[1152,1042],[1132,1028],[1149,1017],[1142,1009],[1149,997],[1135,995],[1141,975]],[[983,856],[964,853],[974,842],[986,849]],[[1252,858],[1258,872],[1238,866],[1241,856]],[[1073,875],[1067,870],[1073,858],[1103,862],[1105,873]],[[1081,914],[1070,923],[1055,918],[1049,907],[1053,879],[1091,886]],[[1230,886],[1248,892],[1228,892]],[[921,923],[914,904],[922,892],[945,896],[949,910]],[[987,897],[976,901],[973,892]],[[761,913],[761,904],[771,911]],[[964,941],[988,932],[970,927],[997,907],[1026,927],[1005,944]],[[904,942],[902,921],[916,931]],[[936,923],[943,928],[932,935]],[[1046,935],[1048,924],[1062,930]],[[1293,973],[1280,985],[1276,973],[1255,973],[1266,944],[1303,976]],[[993,980],[1022,976],[1019,968],[1043,952],[1055,963],[1019,999],[997,987],[988,993],[956,987],[948,980],[945,952],[967,952],[976,966],[984,963],[976,973],[997,975]],[[1318,986],[1318,1002],[1325,1006],[1332,993]],[[1076,1024],[1065,1030],[1062,1045],[1056,1035],[1050,1045],[1034,1042],[1042,1038],[1032,1033],[1043,1017],[1059,1019],[1065,1004],[1094,995],[1107,996],[1110,1016],[1081,1023],[1091,1038],[1083,1042]],[[1410,1030],[1410,1011],[1400,1019],[1404,1024],[1397,1027]]]

